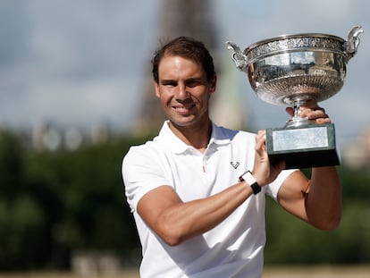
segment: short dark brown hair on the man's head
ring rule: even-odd
[[[214,78],[214,59],[209,54],[206,46],[201,41],[194,38],[179,37],[172,39],[172,41],[168,42],[155,52],[152,60],[152,74],[156,83],[159,82],[158,66],[165,55],[181,56],[192,60],[195,63],[199,63],[203,66],[203,70],[206,72],[207,80],[212,80]]]

